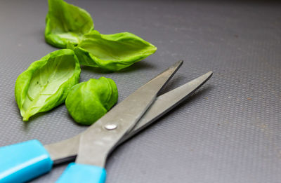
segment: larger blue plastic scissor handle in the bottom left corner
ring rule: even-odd
[[[50,171],[52,165],[38,140],[0,147],[0,183],[26,182]]]

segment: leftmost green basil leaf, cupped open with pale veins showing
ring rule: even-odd
[[[68,91],[79,83],[79,61],[73,50],[56,50],[33,62],[15,82],[15,100],[23,121],[65,101]]]

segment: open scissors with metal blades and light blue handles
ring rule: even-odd
[[[200,88],[213,74],[206,74],[158,96],[181,67],[180,60],[145,83],[70,139],[43,146],[38,140],[0,147],[0,182],[26,182],[49,172],[53,165],[67,165],[57,183],[104,183],[105,162],[110,152]]]

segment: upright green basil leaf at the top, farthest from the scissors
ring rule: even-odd
[[[67,43],[79,43],[81,37],[93,29],[91,15],[84,9],[63,0],[48,0],[46,15],[46,42],[58,48]]]

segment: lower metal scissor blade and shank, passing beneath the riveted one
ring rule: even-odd
[[[183,86],[180,86],[157,97],[155,102],[152,104],[150,109],[145,112],[135,128],[133,128],[133,130],[131,130],[131,132],[126,135],[121,142],[124,142],[129,137],[132,137],[140,130],[143,130],[143,128],[156,121],[157,118],[176,107],[177,104],[181,103],[192,93],[194,93],[198,88],[200,88],[206,81],[208,81],[212,74],[212,72],[208,72],[207,74],[204,74],[197,79],[185,83]],[[54,164],[75,160],[79,147],[79,138],[80,134],[70,139],[63,140],[54,144],[48,144],[45,146],[52,160],[54,161]]]

